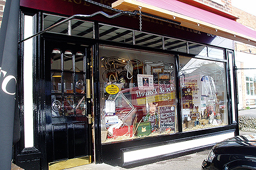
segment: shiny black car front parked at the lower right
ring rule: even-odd
[[[202,169],[256,169],[256,134],[217,143],[203,160]]]

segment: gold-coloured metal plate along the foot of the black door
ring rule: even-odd
[[[59,170],[59,169],[66,169],[81,165],[86,165],[92,163],[92,157],[84,156],[79,158],[67,159],[62,161],[50,162],[49,163],[49,170]]]

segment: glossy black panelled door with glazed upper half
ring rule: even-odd
[[[44,48],[47,161],[90,156],[90,46],[46,40]]]

